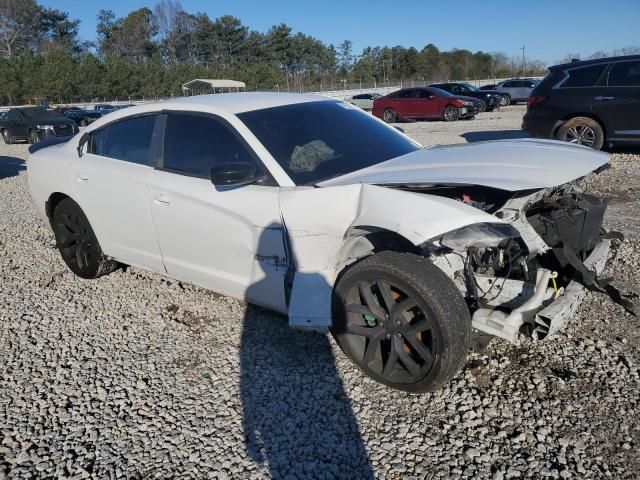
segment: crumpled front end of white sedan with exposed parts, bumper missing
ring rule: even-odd
[[[475,329],[542,339],[567,323],[587,288],[607,291],[598,280],[611,245],[603,198],[569,185],[476,206],[507,224],[469,225],[423,245],[463,293]]]

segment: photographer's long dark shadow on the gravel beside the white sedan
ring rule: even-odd
[[[284,280],[282,267],[265,274]],[[326,335],[291,329],[286,317],[248,306],[240,370],[245,449],[268,465],[270,478],[373,478]]]

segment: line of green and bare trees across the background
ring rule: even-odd
[[[118,18],[100,10],[96,40],[79,20],[36,0],[0,0],[0,103],[153,98],[181,95],[194,78],[244,81],[247,90],[317,91],[348,84],[393,84],[544,74],[544,63],[503,53],[327,45],[286,24],[251,30],[233,16],[211,19],[161,0]]]

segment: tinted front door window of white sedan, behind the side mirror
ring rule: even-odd
[[[211,167],[233,162],[255,163],[255,159],[226,124],[201,115],[167,117],[164,168],[209,178]]]

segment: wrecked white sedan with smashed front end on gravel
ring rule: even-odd
[[[367,375],[433,390],[472,331],[544,338],[597,285],[608,155],[544,140],[421,145],[316,95],[195,96],[33,145],[31,194],[68,267],[118,263],[330,329]]]

